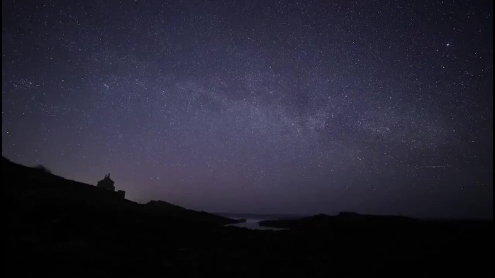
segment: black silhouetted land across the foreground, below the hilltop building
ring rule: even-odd
[[[235,221],[2,160],[2,277],[492,277],[493,222],[313,216]]]

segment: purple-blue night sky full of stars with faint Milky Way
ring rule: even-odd
[[[2,155],[211,212],[493,218],[493,1],[2,1]]]

